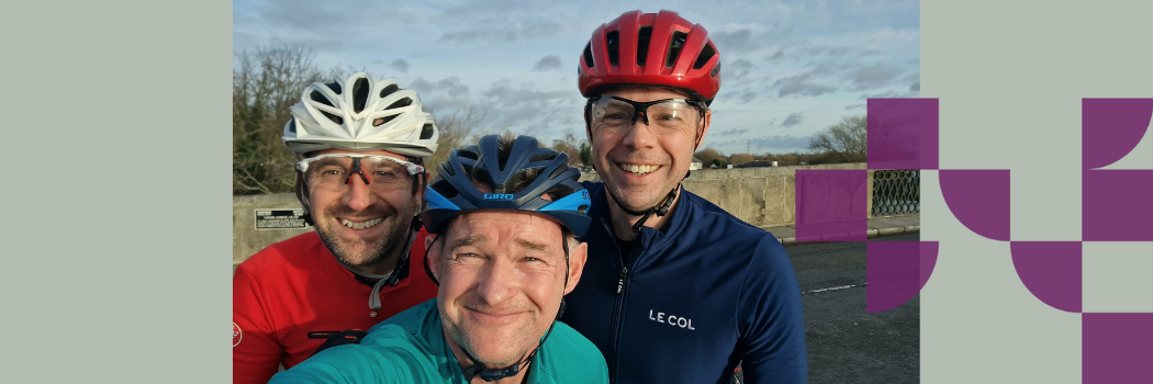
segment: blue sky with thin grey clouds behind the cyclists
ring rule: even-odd
[[[807,151],[871,97],[920,95],[915,0],[233,1],[233,52],[300,45],[321,69],[362,68],[416,90],[435,115],[475,106],[481,133],[585,137],[576,66],[620,14],[675,10],[709,31],[721,92],[702,148]]]

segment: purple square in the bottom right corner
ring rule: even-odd
[[[1153,314],[1082,314],[1082,383],[1153,383]]]

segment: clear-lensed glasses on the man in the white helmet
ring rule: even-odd
[[[330,153],[296,161],[296,170],[310,187],[340,191],[359,175],[372,190],[408,187],[424,166],[380,155]]]

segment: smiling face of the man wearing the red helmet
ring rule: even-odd
[[[658,86],[618,88],[602,96],[640,103],[687,98],[684,93]],[[693,151],[700,137],[704,136],[713,114],[707,111],[702,118],[699,110],[692,111],[692,115],[680,116],[685,119],[685,129],[658,127],[656,106],[649,107],[650,115],[639,116],[635,123],[624,129],[610,129],[598,125],[595,116],[590,119],[593,163],[621,206],[634,211],[653,208],[688,173]],[[649,125],[645,123],[646,119]]]

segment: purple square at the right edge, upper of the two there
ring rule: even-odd
[[[1083,171],[1082,240],[1153,241],[1153,171]]]

